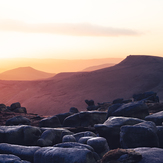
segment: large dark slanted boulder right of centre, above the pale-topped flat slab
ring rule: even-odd
[[[127,104],[115,104],[108,108],[107,117],[125,116],[144,119],[149,115],[147,105],[142,101],[130,102]]]

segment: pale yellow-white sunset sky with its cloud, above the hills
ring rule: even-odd
[[[163,57],[163,0],[0,0],[0,58]]]

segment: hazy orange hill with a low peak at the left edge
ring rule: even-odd
[[[32,67],[19,67],[0,73],[1,80],[40,80],[53,77],[55,74],[38,71]]]

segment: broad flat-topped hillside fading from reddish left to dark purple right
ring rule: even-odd
[[[163,58],[128,56],[113,67],[58,74],[46,81],[0,81],[0,90],[1,103],[19,101],[28,112],[44,115],[67,112],[72,106],[85,110],[85,99],[105,102],[151,90],[163,99]]]

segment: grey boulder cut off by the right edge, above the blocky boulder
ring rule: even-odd
[[[163,122],[163,111],[148,115],[145,117],[146,121],[152,121],[154,122],[157,126],[162,125]]]

